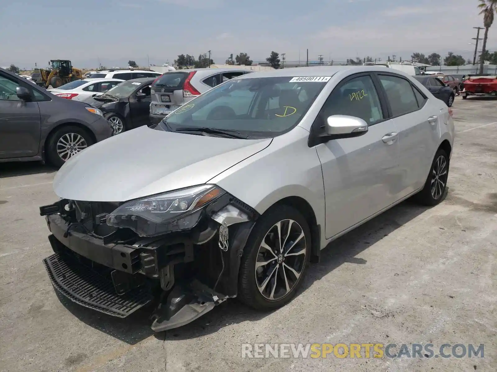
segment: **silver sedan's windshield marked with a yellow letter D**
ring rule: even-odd
[[[183,105],[158,129],[207,127],[254,138],[282,134],[300,122],[329,78],[292,80],[291,76],[230,80]]]

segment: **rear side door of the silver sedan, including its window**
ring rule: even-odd
[[[431,102],[433,99],[430,101],[408,78],[383,72],[377,77],[388,100],[389,117],[399,133],[400,199],[426,181],[438,146],[440,109],[434,108],[438,102]]]

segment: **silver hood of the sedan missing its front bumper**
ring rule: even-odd
[[[141,126],[78,153],[61,167],[53,188],[67,199],[126,201],[201,185],[263,150],[271,140],[183,134]]]

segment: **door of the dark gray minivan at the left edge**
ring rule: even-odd
[[[32,91],[28,83],[0,72],[0,159],[38,154],[40,109],[37,102],[25,102],[17,97],[19,86]],[[35,96],[33,100],[36,101]]]

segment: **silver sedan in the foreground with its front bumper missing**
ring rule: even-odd
[[[250,73],[66,163],[40,208],[45,265],[114,316],[158,296],[156,331],[233,297],[276,309],[334,239],[410,196],[440,203],[453,142],[447,105],[402,71]]]

